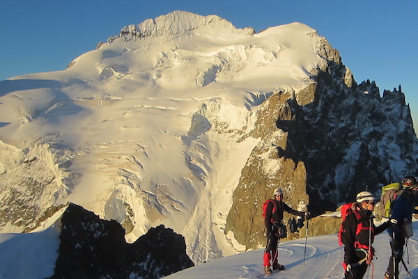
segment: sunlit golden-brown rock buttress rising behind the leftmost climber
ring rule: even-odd
[[[254,136],[263,141],[251,153],[242,170],[239,186],[233,193],[233,205],[226,219],[226,231],[233,231],[235,239],[247,248],[265,243],[264,221],[261,218],[263,202],[273,198],[276,187],[284,189],[286,203],[294,209],[307,210],[309,196],[306,193],[307,173],[302,161],[286,157],[287,132],[277,128],[277,122],[291,122],[293,115],[287,99],[289,93],[275,93],[258,117],[259,127]],[[275,133],[270,131],[276,130]],[[284,214],[287,220],[288,214]]]

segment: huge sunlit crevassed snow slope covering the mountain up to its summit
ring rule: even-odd
[[[67,70],[1,81],[0,198],[16,217],[0,232],[22,229],[21,204],[41,214],[74,202],[122,223],[128,241],[164,223],[196,263],[242,251],[223,228],[258,142],[245,134],[272,92],[311,82],[321,44],[300,23],[255,34],[177,11],[127,26]],[[42,189],[35,201],[22,180]]]

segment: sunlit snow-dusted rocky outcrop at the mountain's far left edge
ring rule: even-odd
[[[56,198],[68,192],[72,177],[63,169],[65,156],[48,144],[20,150],[0,142],[0,232],[30,232],[65,206]],[[7,231],[6,232],[10,232]]]

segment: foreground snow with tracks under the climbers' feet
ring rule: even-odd
[[[418,229],[415,225],[415,236],[408,241],[408,255],[404,260],[411,273],[411,278],[418,275]],[[285,271],[277,271],[271,276],[263,274],[263,249],[224,257],[206,264],[194,266],[167,279],[242,279],[242,278],[343,278],[343,247],[338,244],[336,234],[307,239],[306,257],[304,261],[305,239],[297,239],[279,244],[279,262],[286,266]],[[383,278],[391,255],[389,237],[386,232],[376,236],[373,247],[376,258],[364,275],[366,278]],[[401,268],[399,278],[407,278],[405,269]]]

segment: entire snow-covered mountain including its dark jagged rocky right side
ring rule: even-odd
[[[0,232],[73,202],[130,242],[164,224],[199,264],[264,244],[274,187],[319,214],[415,172],[417,146],[400,88],[357,85],[309,26],[176,11],[0,81]]]

